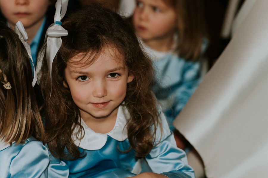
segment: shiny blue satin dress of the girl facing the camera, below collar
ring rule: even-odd
[[[117,147],[118,146],[118,147]],[[119,142],[107,136],[106,144],[99,150],[84,150],[85,157],[74,160],[55,159],[49,165],[49,177],[65,175],[65,177],[118,177],[134,176],[133,170],[140,172],[153,171],[155,173],[172,172],[173,177],[194,178],[193,169],[188,166],[185,152],[176,147],[172,132],[158,144],[145,158],[146,161],[135,159],[135,151],[120,152],[129,147],[128,140]],[[119,148],[119,150],[117,149]],[[147,164],[147,165],[145,165]],[[56,168],[56,169],[55,169]],[[69,171],[69,175],[66,174]]]

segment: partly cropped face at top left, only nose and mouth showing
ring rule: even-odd
[[[9,23],[21,21],[29,28],[46,15],[49,0],[0,0],[0,9]]]

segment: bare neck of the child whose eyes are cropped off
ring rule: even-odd
[[[31,44],[32,40],[34,39],[37,31],[39,30],[40,26],[43,23],[45,17],[41,18],[40,20],[38,20],[38,22],[36,22],[35,24],[33,24],[32,26],[29,27],[24,27],[25,31],[27,32],[28,35],[28,40],[27,42],[29,44]],[[15,30],[15,24],[11,23],[8,21],[9,26],[11,27],[11,29]]]

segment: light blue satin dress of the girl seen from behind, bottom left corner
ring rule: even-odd
[[[25,144],[15,145],[0,142],[0,177],[2,178],[47,178],[49,153],[42,142],[34,137]]]

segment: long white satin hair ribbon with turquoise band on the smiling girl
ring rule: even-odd
[[[52,63],[62,44],[61,36],[68,35],[68,31],[61,26],[62,23],[60,21],[66,14],[67,6],[68,6],[68,0],[57,0],[56,13],[54,16],[54,24],[49,26],[46,33],[47,37],[46,62],[49,68],[49,75],[50,75],[50,85],[51,85],[50,96],[52,90]]]

